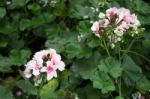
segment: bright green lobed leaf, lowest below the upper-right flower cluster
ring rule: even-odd
[[[107,73],[97,70],[92,74],[91,81],[93,82],[93,87],[101,89],[102,93],[115,90],[115,85]]]

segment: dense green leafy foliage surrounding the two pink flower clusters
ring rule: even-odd
[[[108,57],[91,21],[110,7],[136,13],[145,31]],[[148,0],[0,0],[0,99],[149,99],[149,9]],[[47,48],[66,69],[35,87],[24,64]]]

